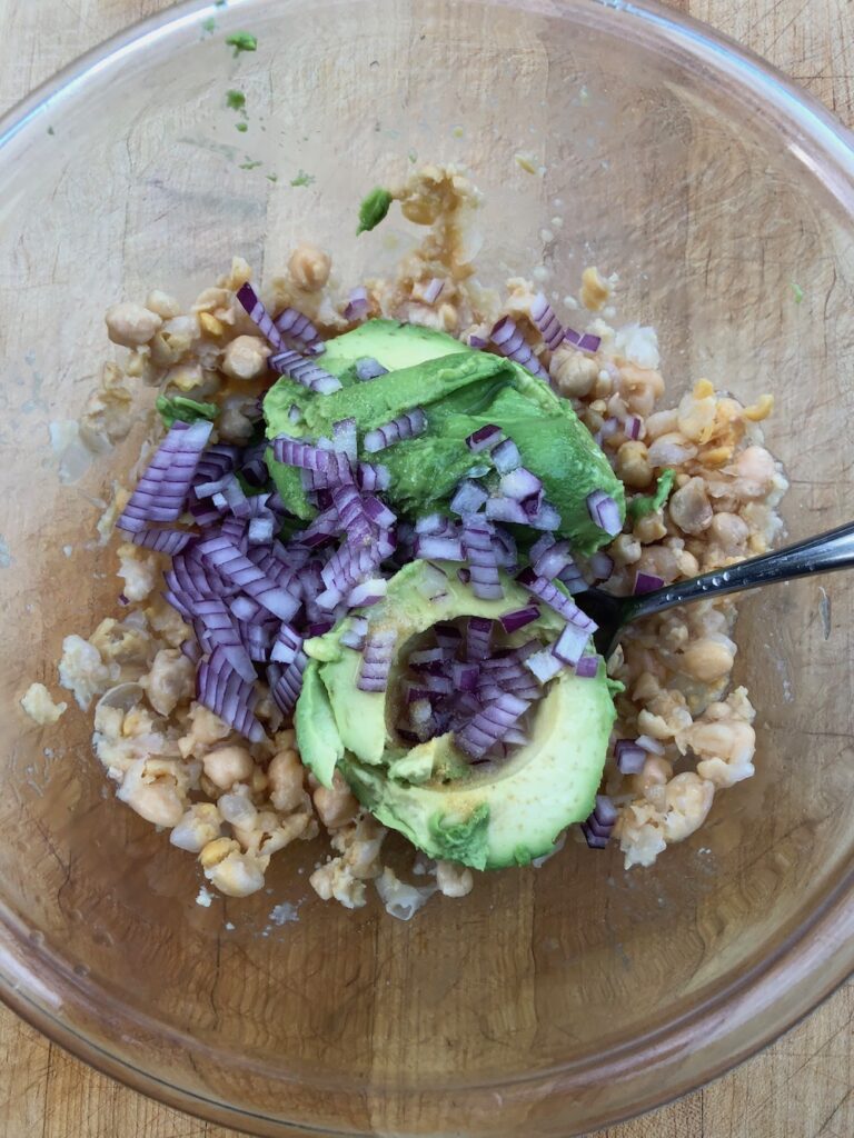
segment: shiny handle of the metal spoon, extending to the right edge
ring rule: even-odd
[[[723,596],[726,593],[758,588],[761,585],[808,577],[813,572],[851,568],[854,568],[854,522],[819,534],[818,537],[807,537],[795,545],[787,545],[785,550],[773,550],[725,569],[715,569],[658,588],[654,593],[646,593],[633,601],[626,619],[638,620],[652,612],[663,612],[676,604],[687,604],[706,596]]]

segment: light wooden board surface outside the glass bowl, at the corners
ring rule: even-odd
[[[0,110],[165,0],[2,0]],[[854,0],[676,0],[769,58],[852,125]],[[717,1082],[597,1138],[851,1138],[854,983]],[[227,1138],[69,1057],[0,1007],[0,1133]]]

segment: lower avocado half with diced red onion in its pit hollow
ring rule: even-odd
[[[432,563],[412,562],[391,579],[381,602],[360,613],[369,635],[394,633],[386,693],[359,691],[361,654],[340,644],[348,618],[306,642],[310,663],[296,709],[299,751],[323,785],[337,768],[384,825],[430,857],[476,869],[527,865],[592,810],[615,715],[605,668],[591,679],[570,670],[559,675],[534,706],[531,742],[500,762],[469,766],[450,734],[403,747],[394,729],[395,693],[412,637],[458,617],[498,619],[528,599],[503,577],[503,600],[479,600],[459,583],[453,566],[444,569],[443,583]],[[509,640],[553,640],[561,626],[544,610]]]

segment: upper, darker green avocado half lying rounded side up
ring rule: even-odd
[[[366,357],[377,360],[388,374],[360,382],[354,368]],[[334,423],[353,418],[361,443],[366,431],[422,407],[424,435],[377,455],[359,454],[391,471],[385,497],[392,509],[418,516],[444,506],[462,478],[488,463],[484,454],[469,451],[467,436],[494,423],[516,443],[523,464],[542,479],[560,514],[558,533],[575,552],[592,553],[609,541],[590,517],[589,494],[603,490],[624,514],[623,486],[569,403],[511,361],[476,352],[443,332],[372,320],[327,341],[319,362],[340,379],[342,390],[318,396],[282,377],[264,399],[268,438],[328,438]],[[271,450],[268,464],[288,509],[302,519],[313,517],[299,471],[276,462]]]

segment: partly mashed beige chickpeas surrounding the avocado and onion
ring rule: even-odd
[[[663,405],[666,384],[655,330],[610,323],[618,278],[596,266],[586,266],[570,286],[578,288],[581,307],[567,298],[570,323],[578,323],[584,341],[576,346],[569,333],[564,338],[561,325],[557,341],[547,343],[535,319],[543,302],[536,282],[510,278],[502,297],[477,277],[481,195],[461,170],[421,167],[387,197],[420,229],[396,275],[367,280],[354,314],[330,253],[301,241],[264,292],[272,311],[296,307],[321,338],[380,316],[466,344],[486,343],[499,319],[512,320],[527,366],[600,440],[630,500],[655,495],[663,478],[673,479],[668,494],[643,510],[630,509],[624,530],[602,551],[613,563],[609,589],[631,593],[638,572],[679,580],[770,546],[786,489],[779,464],[763,445],[770,396],[744,405],[701,379],[675,405]],[[125,438],[138,418],[136,401],[150,389],[149,406],[159,393],[176,405],[181,399],[207,403],[202,413],[211,417],[213,403],[214,444],[221,453],[256,447],[263,470],[258,399],[281,341],[273,348],[239,303],[236,294],[251,280],[252,267],[235,257],[192,304],[154,288],[142,302],[110,306],[107,335],[128,353],[122,366],[105,365],[89,399],[81,422],[88,445],[100,452]],[[298,417],[299,407],[291,413]],[[154,442],[156,432],[146,447]],[[99,523],[105,544],[128,497],[116,484]],[[246,506],[256,508],[257,500]],[[241,550],[247,556],[263,531],[263,521],[253,520]],[[272,534],[273,522],[266,526]],[[167,830],[176,849],[197,857],[214,889],[233,898],[258,892],[273,857],[287,856],[282,851],[289,846],[321,832],[331,855],[315,859],[311,887],[347,908],[366,905],[370,885],[392,915],[409,920],[434,894],[441,894],[432,901],[437,905],[444,904],[442,897],[462,898],[475,888],[476,874],[452,861],[430,861],[426,868],[424,859],[416,859],[420,883],[383,864],[386,831],[362,809],[343,776],[336,770],[331,785],[323,786],[303,766],[295,732],[273,699],[272,669],[260,683],[258,742],[248,742],[198,702],[198,629],[191,613],[178,612],[164,599],[170,559],[128,534],[116,543],[116,555],[121,611],[97,622],[88,636],[65,637],[59,683],[81,709],[95,704],[93,749],[117,798]],[[592,578],[586,560],[580,561]],[[606,767],[617,811],[614,836],[626,867],[651,865],[668,844],[695,833],[717,809],[717,797],[754,773],[754,709],[744,688],[731,690],[734,621],[731,600],[664,613],[626,629],[608,661],[608,674],[621,687],[614,737],[639,739],[646,749],[633,774],[623,776],[611,758]],[[42,684],[33,684],[20,702],[42,726],[56,723],[67,707]]]

